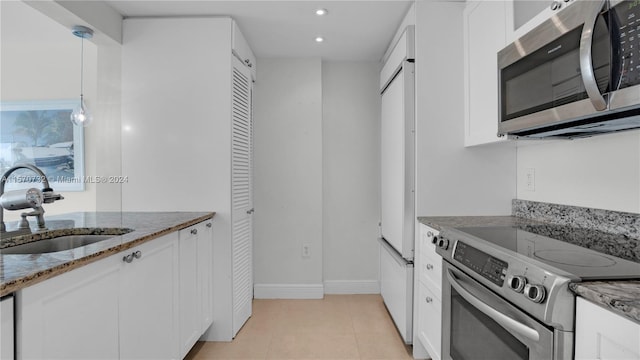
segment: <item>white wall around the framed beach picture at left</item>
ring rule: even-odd
[[[1,2],[0,12],[1,101],[79,98],[80,39],[70,28],[21,1]],[[84,51],[84,94],[94,114],[85,128],[85,175],[120,175],[119,46],[85,41]],[[47,214],[120,209],[119,185],[87,183],[85,191],[62,194],[63,201],[45,206]],[[5,215],[19,219],[19,212]]]

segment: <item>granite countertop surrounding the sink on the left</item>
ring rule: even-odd
[[[213,218],[213,212],[78,212],[47,216],[46,225],[59,235],[89,229],[100,233],[115,228],[132,231],[87,246],[45,254],[10,255],[2,248],[36,241],[38,235],[0,241],[0,297],[140,245],[160,236]],[[9,224],[8,224],[9,227]],[[96,232],[97,231],[97,232]]]

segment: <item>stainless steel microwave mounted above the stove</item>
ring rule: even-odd
[[[498,135],[640,128],[640,1],[576,0],[498,53]]]

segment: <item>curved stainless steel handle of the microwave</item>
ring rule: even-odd
[[[580,37],[580,73],[582,74],[582,81],[584,83],[585,90],[593,107],[602,111],[607,108],[607,101],[598,89],[598,82],[596,81],[596,75],[593,72],[593,56],[591,53],[591,47],[593,44],[593,32],[596,27],[596,21],[598,15],[605,5],[606,0],[600,0],[594,2],[592,12],[585,19],[584,27],[582,28],[582,35]]]

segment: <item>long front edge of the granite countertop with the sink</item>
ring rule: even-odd
[[[0,297],[3,297],[5,295],[14,293],[16,291],[22,290],[26,287],[35,285],[37,283],[40,283],[42,281],[51,279],[55,276],[64,274],[66,272],[69,272],[71,270],[80,268],[82,266],[88,265],[90,263],[93,263],[97,260],[100,259],[104,259],[107,258],[111,255],[117,254],[121,251],[130,249],[132,247],[138,246],[140,244],[146,243],[148,241],[157,239],[161,236],[176,232],[176,231],[180,231],[182,229],[188,228],[192,225],[201,223],[203,221],[209,220],[209,219],[213,219],[213,217],[215,216],[215,212],[207,212],[204,213],[204,215],[201,216],[197,216],[194,217],[190,220],[186,220],[186,221],[182,221],[178,224],[175,224],[173,226],[169,226],[166,228],[161,228],[158,231],[154,231],[151,233],[145,233],[143,235],[141,235],[138,238],[135,238],[133,240],[127,241],[125,243],[122,244],[118,244],[116,246],[112,246],[110,248],[98,251],[96,253],[87,255],[85,257],[67,262],[67,263],[63,263],[57,266],[53,266],[51,268],[48,268],[46,270],[41,270],[38,272],[35,272],[33,274],[29,274],[26,275],[24,277],[18,278],[18,279],[14,279],[14,280],[10,280],[7,282],[4,282],[2,284],[0,284]]]

